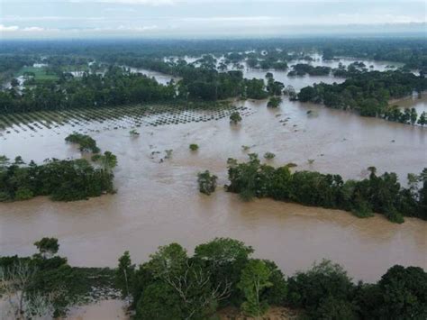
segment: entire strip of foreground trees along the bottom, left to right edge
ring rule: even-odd
[[[255,317],[269,306],[307,319],[427,316],[427,273],[418,267],[395,265],[377,283],[355,284],[332,261],[286,277],[275,262],[253,258],[250,246],[229,238],[199,244],[193,256],[170,243],[138,267],[126,251],[115,270],[69,266],[55,238],[34,245],[32,257],[0,257],[0,291],[15,317],[65,315],[77,303],[120,293],[135,319],[207,319],[226,306]]]

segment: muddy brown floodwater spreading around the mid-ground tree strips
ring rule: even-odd
[[[295,162],[296,169],[364,178],[368,166],[408,172],[427,166],[427,130],[389,123],[319,105],[284,101],[271,110],[266,101],[242,103],[250,109],[239,125],[219,121],[141,127],[90,133],[105,151],[118,156],[115,195],[70,203],[47,197],[0,204],[0,255],[32,254],[43,236],[59,238],[61,255],[72,265],[115,266],[125,250],[141,262],[159,245],[179,242],[193,251],[214,237],[232,237],[254,247],[256,256],[276,261],[290,275],[323,258],[341,263],[354,279],[377,280],[395,263],[427,269],[427,222],[406,218],[392,224],[383,216],[359,219],[349,213],[257,199],[243,203],[218,187],[206,197],[196,173],[209,169],[227,182],[226,160],[246,160],[241,145],[260,155],[276,153],[273,165]],[[312,110],[311,114],[306,114]],[[287,120],[286,120],[287,119]],[[88,129],[87,124],[86,129]],[[94,126],[96,124],[94,123]],[[80,156],[64,142],[76,128],[56,133],[5,134],[0,154],[42,161]],[[188,150],[197,143],[199,151]],[[164,151],[172,159],[159,163]],[[160,154],[153,151],[159,151]],[[313,159],[308,164],[308,159]]]

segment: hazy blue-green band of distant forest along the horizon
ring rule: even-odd
[[[295,39],[233,39],[233,40],[97,40],[97,41],[2,41],[0,59],[3,54],[16,55],[71,55],[105,61],[117,56],[138,57],[200,57],[204,54],[222,56],[233,53],[254,58],[255,52],[280,50],[289,56],[313,51],[323,52],[325,58],[355,57],[402,62],[410,69],[427,67],[427,44],[424,37],[390,38],[319,38]],[[264,57],[264,56],[263,56]],[[282,54],[281,59],[284,59]],[[264,60],[271,61],[271,57]]]

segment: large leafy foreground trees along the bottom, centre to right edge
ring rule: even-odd
[[[177,243],[159,247],[138,268],[128,251],[119,259],[117,286],[132,297],[136,319],[207,319],[225,306],[259,317],[268,306],[301,310],[309,319],[422,319],[427,273],[395,265],[376,284],[355,285],[331,261],[286,279],[273,261],[251,258],[243,242],[216,238],[188,256]]]

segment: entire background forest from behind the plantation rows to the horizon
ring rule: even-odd
[[[83,41],[78,45],[68,41],[5,41],[4,44],[0,50],[1,74],[10,77],[13,71],[34,62],[43,63],[46,73],[43,77],[34,77],[32,71],[24,72],[23,88],[19,88],[19,82],[13,78],[12,87],[0,91],[0,113],[6,114],[184,99],[262,99],[282,94],[285,87],[282,83],[276,81],[273,88],[275,82],[269,79],[266,85],[263,79],[243,78],[243,63],[254,69],[285,70],[289,61],[297,60],[299,62],[288,72],[289,77],[332,74],[346,78],[339,85],[320,83],[304,87],[298,99],[334,108],[355,109],[362,115],[382,116],[402,123],[413,123],[413,114],[409,114],[408,119],[407,112],[389,107],[388,100],[411,95],[414,90],[422,92],[427,87],[423,77],[427,48],[417,39],[136,41],[132,46],[130,42],[118,41],[114,47],[109,41]],[[384,48],[390,50],[388,54]],[[13,55],[13,50],[19,54]],[[403,69],[379,72],[369,70],[358,61],[347,68],[339,66],[337,69],[302,63],[312,61],[310,54],[313,52],[323,53],[323,59],[351,56],[388,59],[406,65]],[[189,63],[183,59],[185,56],[198,59]],[[223,57],[221,62],[220,57]],[[177,77],[177,83],[164,86],[154,78],[132,73],[123,66],[159,71]],[[83,72],[82,77],[69,72],[76,69]],[[420,76],[413,75],[409,69],[418,69]],[[421,120],[420,124],[423,123],[425,121]]]

